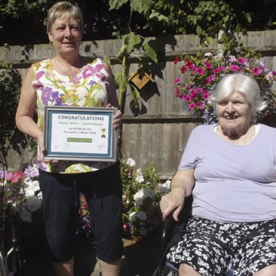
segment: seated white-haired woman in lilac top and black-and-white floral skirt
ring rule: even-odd
[[[276,275],[276,130],[257,124],[266,104],[255,79],[226,75],[210,103],[219,124],[197,126],[160,206],[192,217],[167,258],[181,276]]]

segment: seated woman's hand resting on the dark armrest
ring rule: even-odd
[[[161,197],[160,208],[163,220],[173,212],[172,217],[178,221],[178,215],[184,205],[184,193],[178,188],[172,189],[170,193]]]

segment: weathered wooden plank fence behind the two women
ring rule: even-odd
[[[276,31],[248,32],[241,37],[244,45],[262,52],[268,67],[276,70]],[[141,90],[139,109],[132,108],[132,96],[128,88],[124,103],[123,127],[121,135],[121,155],[135,159],[137,167],[145,168],[150,163],[157,168],[164,179],[170,179],[177,170],[184,146],[191,130],[199,124],[199,119],[190,117],[185,112],[181,101],[174,93],[173,80],[179,76],[177,66],[173,63],[181,53],[195,54],[200,50],[199,38],[193,34],[171,37],[149,37],[148,41],[158,53],[158,63],[152,63],[141,50],[135,55],[148,61],[148,72],[154,82]],[[85,57],[111,57],[112,70],[116,73],[120,64],[115,59],[122,41],[102,40],[84,41],[81,44],[81,55]],[[206,52],[217,52],[217,40],[204,49]],[[34,46],[12,46],[10,49],[0,47],[0,60],[13,63],[22,77],[31,63],[52,57],[54,52],[48,44]],[[129,72],[136,72],[137,59],[128,59]],[[1,108],[1,107],[0,107]],[[8,165],[12,170],[19,168],[23,162],[30,161],[32,153],[23,150],[21,155],[10,151]]]

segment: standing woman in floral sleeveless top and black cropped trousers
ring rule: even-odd
[[[110,66],[89,63],[79,54],[83,17],[67,1],[48,10],[47,33],[55,57],[32,64],[21,88],[16,123],[37,139],[39,184],[50,256],[57,276],[74,275],[75,233],[79,194],[90,210],[97,259],[103,276],[119,275],[121,239],[121,177],[119,161],[49,161],[43,159],[44,106],[115,106],[119,108]],[[34,121],[37,108],[38,121]],[[121,111],[112,121],[121,125]]]

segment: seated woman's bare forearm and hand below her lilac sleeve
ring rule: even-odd
[[[163,219],[173,212],[172,217],[177,217],[183,208],[185,197],[191,195],[195,185],[194,169],[177,170],[170,184],[170,193],[164,195],[160,201]]]

